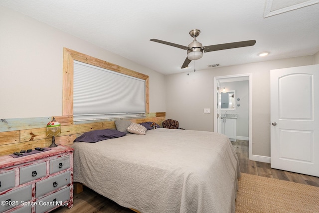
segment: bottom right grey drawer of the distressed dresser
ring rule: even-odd
[[[56,206],[67,206],[64,202],[68,200],[70,200],[70,187],[38,200],[39,205],[35,207],[35,213],[44,213]]]

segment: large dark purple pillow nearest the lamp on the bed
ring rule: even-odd
[[[120,132],[116,129],[103,129],[103,130],[93,130],[90,132],[83,133],[81,136],[77,137],[75,142],[89,142],[95,143],[98,141],[103,141],[111,138],[119,138],[125,136],[127,133]]]

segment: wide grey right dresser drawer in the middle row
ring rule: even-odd
[[[39,181],[35,185],[35,196],[38,198],[46,193],[56,190],[70,183],[71,172],[67,171],[60,175]]]

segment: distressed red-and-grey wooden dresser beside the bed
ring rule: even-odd
[[[73,149],[65,146],[0,156],[0,213],[44,213],[73,207]]]

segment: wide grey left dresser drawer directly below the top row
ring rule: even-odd
[[[21,201],[30,201],[32,198],[31,185],[22,187],[0,196],[0,201],[5,201],[10,206],[0,205],[0,213],[13,207],[19,206]]]

